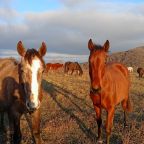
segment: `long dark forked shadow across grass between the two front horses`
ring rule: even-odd
[[[83,100],[78,98],[76,95],[73,95],[71,93],[69,93],[68,91],[60,88],[59,86],[53,85],[52,83],[49,83],[46,80],[42,81],[43,84],[43,89],[50,94],[51,98],[54,100],[54,102],[58,105],[59,108],[61,108],[61,110],[63,110],[66,114],[68,114],[70,117],[72,117],[76,123],[78,124],[79,128],[82,130],[82,132],[87,136],[87,138],[95,143],[96,142],[96,135],[91,131],[91,129],[89,129],[86,124],[78,117],[74,114],[74,112],[72,111],[72,109],[69,107],[65,107],[62,103],[60,103],[57,100],[57,94],[56,93],[61,93],[63,94],[66,98],[69,98],[68,95],[72,95],[74,98],[79,99],[79,100]],[[70,99],[70,98],[69,98]],[[71,100],[71,99],[70,99]],[[72,100],[71,100],[72,104],[74,104],[79,110],[80,112],[84,112],[77,104],[75,104]],[[88,106],[88,105],[87,105]],[[90,107],[90,106],[89,106]]]

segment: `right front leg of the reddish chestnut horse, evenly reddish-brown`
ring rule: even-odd
[[[113,118],[114,118],[114,108],[110,108],[108,110],[108,115],[106,120],[106,133],[107,133],[106,144],[109,144],[110,141],[110,134],[113,126]]]

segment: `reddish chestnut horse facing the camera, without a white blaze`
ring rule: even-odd
[[[124,109],[124,126],[126,126],[125,111],[130,111],[132,106],[129,99],[129,73],[125,66],[120,63],[107,63],[106,57],[109,50],[109,41],[103,46],[96,45],[90,39],[89,75],[91,80],[90,97],[93,101],[97,116],[98,142],[101,142],[101,111],[107,111],[106,133],[109,144],[113,125],[115,106],[122,103]]]

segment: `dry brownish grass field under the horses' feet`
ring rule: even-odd
[[[144,78],[131,76],[130,96],[133,112],[128,115],[128,128],[123,129],[123,111],[118,105],[115,112],[111,144],[144,144]],[[41,107],[41,135],[43,144],[96,144],[97,123],[89,97],[89,74],[82,77],[48,72],[43,77],[43,103]],[[103,110],[103,140],[106,112]],[[23,144],[32,144],[25,117],[22,118]],[[2,135],[1,135],[2,136]]]

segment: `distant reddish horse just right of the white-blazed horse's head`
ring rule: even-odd
[[[46,64],[46,72],[49,70],[58,70],[59,68],[62,68],[63,64],[60,63],[47,63]]]

